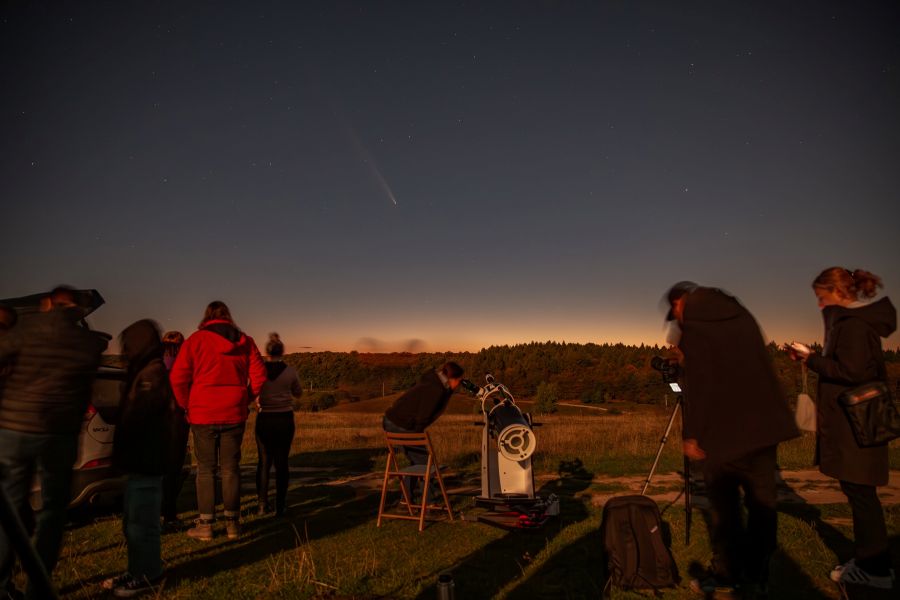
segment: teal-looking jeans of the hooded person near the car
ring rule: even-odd
[[[129,474],[125,485],[122,529],[128,542],[128,572],[153,581],[162,575],[159,507],[162,476]]]

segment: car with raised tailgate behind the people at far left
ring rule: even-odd
[[[32,294],[20,298],[0,300],[19,314],[39,310],[41,299],[47,294]],[[74,290],[77,304],[84,310],[84,316],[97,310],[104,299],[97,290]],[[83,327],[89,328],[85,319]],[[95,331],[107,341],[108,333]],[[92,504],[101,498],[117,498],[125,489],[125,477],[112,466],[113,436],[115,420],[119,409],[121,384],[125,381],[125,369],[115,363],[114,357],[105,355],[103,364],[97,370],[91,391],[91,399],[81,421],[78,436],[78,455],[72,465],[72,500],[70,508]],[[36,510],[41,506],[40,481],[35,479],[31,489],[31,505]]]

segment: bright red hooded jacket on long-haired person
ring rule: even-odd
[[[266,367],[253,338],[228,321],[214,320],[185,340],[169,380],[188,423],[242,423],[266,381]]]

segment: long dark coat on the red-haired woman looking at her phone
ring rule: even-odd
[[[825,348],[806,365],[819,374],[816,462],[829,477],[863,485],[888,482],[888,447],[860,448],[838,404],[844,390],[885,378],[881,338],[897,329],[897,310],[882,298],[858,308],[826,306]]]

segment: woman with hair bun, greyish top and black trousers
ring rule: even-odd
[[[300,408],[297,400],[303,393],[297,372],[284,362],[284,343],[277,333],[269,334],[266,344],[266,381],[257,400],[256,495],[257,512],[269,512],[269,472],[275,466],[275,516],[284,515],[287,499],[288,457],[294,440],[294,412]]]

